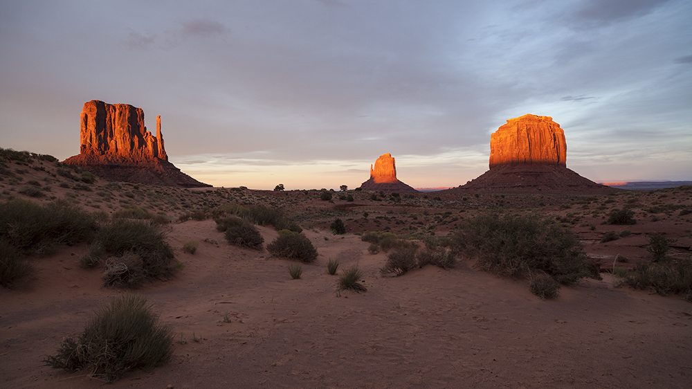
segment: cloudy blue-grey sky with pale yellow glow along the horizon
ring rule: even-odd
[[[692,180],[689,0],[0,0],[0,147],[79,154],[84,102],[142,108],[213,186],[415,188],[552,116],[597,182]]]

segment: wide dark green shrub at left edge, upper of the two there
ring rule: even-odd
[[[56,244],[76,244],[97,229],[91,213],[67,201],[46,206],[21,199],[0,203],[0,236],[21,251],[42,253]]]

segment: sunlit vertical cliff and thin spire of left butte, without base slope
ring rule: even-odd
[[[153,136],[144,125],[141,108],[91,100],[84,103],[80,123],[80,154],[168,161],[161,116],[156,117],[156,136]]]

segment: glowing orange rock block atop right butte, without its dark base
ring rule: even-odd
[[[491,134],[491,169],[522,164],[567,167],[565,132],[550,116],[528,114],[509,119]]]

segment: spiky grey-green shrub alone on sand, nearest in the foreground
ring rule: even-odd
[[[63,341],[46,365],[112,382],[130,370],[152,369],[173,356],[170,327],[158,323],[142,296],[126,295],[97,309],[78,338]]]

